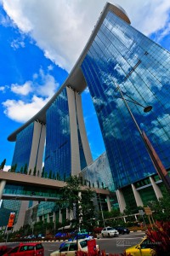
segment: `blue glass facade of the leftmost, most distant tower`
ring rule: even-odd
[[[16,165],[15,172],[20,172],[21,168],[24,168],[29,164],[33,131],[34,123],[31,123],[31,125],[26,127],[26,129],[17,134],[12,161],[12,166]]]

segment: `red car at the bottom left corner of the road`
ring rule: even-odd
[[[44,256],[44,248],[41,242],[25,242],[14,247],[3,256]]]

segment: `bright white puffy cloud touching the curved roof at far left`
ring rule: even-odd
[[[4,113],[9,119],[24,123],[42,109],[43,106],[47,104],[48,100],[48,98],[43,100],[37,96],[33,96],[29,103],[7,100],[6,102],[3,102],[3,107],[5,107]]]

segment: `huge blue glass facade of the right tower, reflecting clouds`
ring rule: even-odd
[[[116,189],[156,173],[127,112],[125,98],[153,107],[150,113],[128,102],[163,165],[170,167],[170,54],[109,12],[82,61]],[[127,96],[126,96],[127,94]]]

